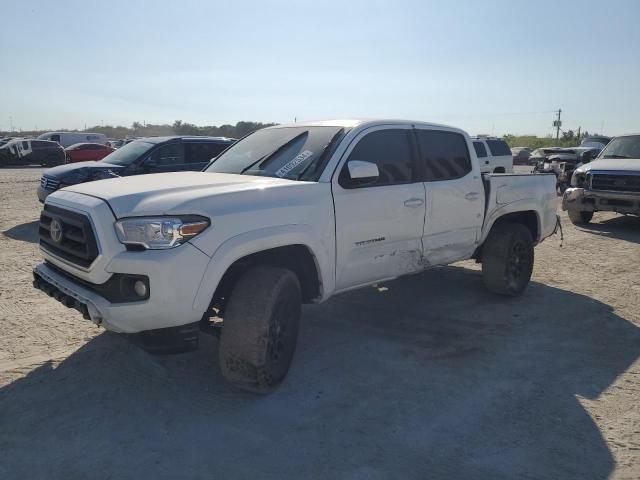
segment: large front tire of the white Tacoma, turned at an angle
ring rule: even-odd
[[[298,277],[259,266],[235,285],[225,309],[218,352],[225,379],[268,393],[286,376],[298,339],[302,294]]]

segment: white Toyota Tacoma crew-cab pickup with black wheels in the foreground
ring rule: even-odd
[[[264,392],[289,369],[302,303],[469,258],[489,290],[521,293],[555,231],[555,183],[483,177],[469,136],[442,125],[271,127],[203,172],[47,197],[34,286],[148,349],[218,332],[225,378]]]

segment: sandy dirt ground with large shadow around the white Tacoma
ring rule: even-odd
[[[640,478],[640,220],[563,215],[520,298],[462,262],[304,308],[272,395],[31,286],[41,169],[0,170],[0,478]]]

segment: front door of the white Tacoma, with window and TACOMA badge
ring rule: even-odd
[[[370,184],[350,184],[350,160],[375,163],[380,177]],[[421,270],[424,185],[416,169],[411,126],[363,131],[349,145],[336,173],[336,288]]]

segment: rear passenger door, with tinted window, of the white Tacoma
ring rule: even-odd
[[[424,258],[443,265],[469,258],[476,248],[484,213],[482,178],[464,135],[416,128],[425,180]]]

